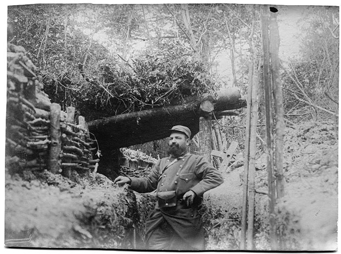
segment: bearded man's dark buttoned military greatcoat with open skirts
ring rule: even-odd
[[[171,225],[173,230],[194,249],[203,250],[204,234],[201,227],[198,206],[207,190],[223,183],[220,172],[199,155],[186,154],[173,159],[171,157],[158,160],[151,173],[143,178],[131,178],[131,188],[137,192],[152,192],[166,199],[166,207],[156,203],[146,222],[146,240],[152,231],[163,221]],[[167,207],[167,195],[175,190],[176,205]],[[182,200],[183,195],[192,190],[196,193],[193,204],[188,207]],[[171,197],[170,197],[171,198]]]

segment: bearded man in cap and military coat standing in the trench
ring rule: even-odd
[[[140,193],[156,189],[157,203],[146,221],[150,250],[204,250],[199,205],[204,192],[222,184],[223,177],[203,156],[189,153],[190,136],[188,127],[172,127],[170,156],[158,160],[149,176],[114,180]]]

